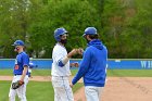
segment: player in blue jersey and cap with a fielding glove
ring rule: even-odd
[[[22,40],[16,40],[13,46],[15,47],[14,51],[18,54],[15,60],[14,77],[10,87],[9,99],[15,101],[17,94],[21,101],[27,101],[26,85],[28,83],[29,56],[24,52],[24,42]]]

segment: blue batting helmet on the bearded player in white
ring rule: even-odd
[[[54,38],[56,41],[61,41],[61,35],[67,34],[68,31],[65,28],[56,28],[54,30]]]

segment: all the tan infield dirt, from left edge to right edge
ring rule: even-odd
[[[11,76],[0,76],[0,80],[11,80]],[[72,77],[71,77],[72,79]],[[51,81],[50,76],[34,76],[30,80]],[[80,80],[81,83],[81,80]],[[84,87],[74,93],[75,101],[86,101]],[[109,77],[102,101],[151,101],[152,77]]]

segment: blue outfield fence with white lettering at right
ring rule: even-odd
[[[37,68],[51,68],[51,59],[33,59],[33,63],[37,64]],[[78,62],[80,59],[73,59],[71,63]],[[0,59],[0,70],[13,68],[15,59]],[[152,59],[109,59],[109,70],[152,70]],[[72,67],[76,70],[76,67]]]

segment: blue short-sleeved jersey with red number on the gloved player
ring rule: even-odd
[[[24,66],[29,66],[29,56],[23,51],[16,55],[14,75],[22,75]]]

